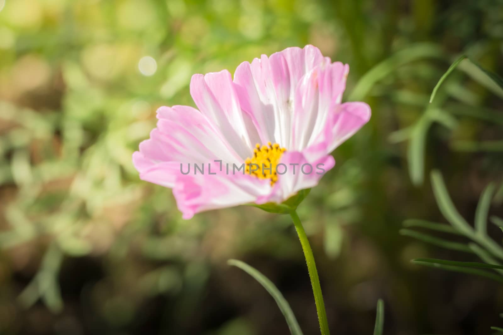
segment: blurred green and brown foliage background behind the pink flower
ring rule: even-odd
[[[193,73],[313,44],[350,64],[346,100],[368,125],[299,207],[332,333],[484,334],[503,289],[424,269],[472,260],[398,231],[444,221],[439,168],[470,222],[489,181],[501,215],[503,94],[468,54],[503,72],[498,0],[0,0],[0,333],[287,334],[274,300],[226,260],[246,261],[318,333],[309,277],[286,215],[251,207],[185,221],[171,191],[131,163],[161,105],[194,105]],[[491,235],[501,242],[495,227]],[[494,234],[493,234],[494,233]],[[498,235],[499,233],[499,235]]]

